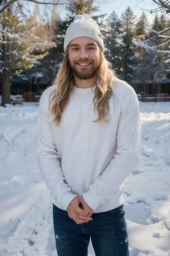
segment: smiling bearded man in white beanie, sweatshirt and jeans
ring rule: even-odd
[[[39,103],[37,158],[53,202],[58,256],[128,256],[123,181],[137,165],[137,95],[104,58],[98,25],[76,15],[55,85]]]

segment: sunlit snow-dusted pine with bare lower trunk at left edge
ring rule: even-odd
[[[10,75],[32,68],[33,63],[44,58],[48,49],[53,46],[53,42],[43,38],[41,29],[42,25],[39,26],[37,34],[34,27],[30,26],[30,20],[24,24],[13,6],[0,13],[1,105],[10,103]]]

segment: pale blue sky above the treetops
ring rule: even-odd
[[[100,5],[100,12],[96,12],[95,14],[110,14],[113,10],[117,12],[117,14],[120,16],[121,13],[124,12],[124,10],[130,6],[131,9],[134,11],[134,13],[139,17],[142,13],[141,9],[151,9],[155,5],[152,0],[105,0],[103,1],[103,5]],[[61,18],[65,17],[65,11],[63,9],[60,9],[60,15]],[[149,14],[149,12],[146,12],[149,18],[153,18],[153,14]]]

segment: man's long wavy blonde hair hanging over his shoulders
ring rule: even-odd
[[[54,93],[51,101],[49,95],[49,107],[52,104],[51,114],[53,117],[52,123],[55,125],[59,125],[62,121],[62,115],[65,111],[70,94],[73,88],[74,83],[74,75],[73,71],[69,64],[69,49],[66,50],[66,55],[63,59],[62,66],[53,82],[56,86],[56,89],[51,92]],[[105,119],[107,114],[109,113],[109,100],[112,96],[112,84],[113,80],[116,77],[115,72],[111,69],[112,64],[109,63],[105,57],[103,52],[100,50],[100,63],[98,67],[97,76],[97,86],[94,91],[94,112],[96,111],[98,114],[98,118],[93,122],[99,122],[103,120],[105,122],[109,122]],[[95,112],[95,113],[96,113]]]

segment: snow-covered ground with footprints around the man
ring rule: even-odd
[[[141,157],[125,181],[129,251],[170,256],[170,102],[140,108]],[[0,256],[57,256],[52,203],[36,161],[37,114],[35,103],[0,107]]]

